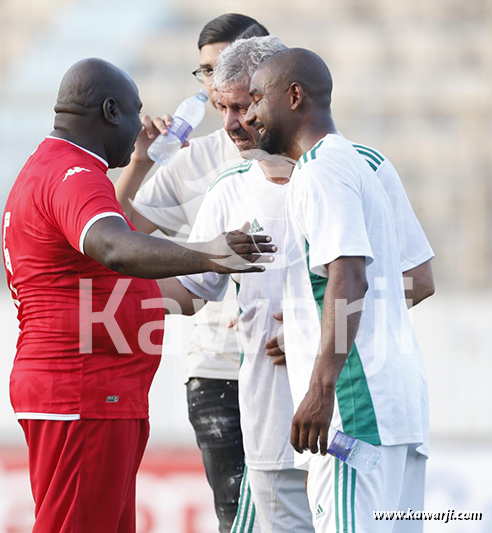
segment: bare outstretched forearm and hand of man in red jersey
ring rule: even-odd
[[[242,229],[247,231],[246,226]],[[275,252],[276,246],[267,244],[270,240],[265,235],[233,231],[208,243],[184,246],[132,231],[123,219],[111,216],[91,226],[84,250],[98,263],[126,276],[158,279],[207,271],[262,272],[261,266],[244,269],[244,262],[269,262],[271,257],[261,257],[258,252]]]

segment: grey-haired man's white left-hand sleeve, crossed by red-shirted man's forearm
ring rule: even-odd
[[[214,191],[215,189],[205,195],[193,224],[189,242],[211,241],[226,231],[223,208],[218,194]],[[215,272],[178,276],[178,279],[193,294],[214,302],[224,299],[229,285],[229,274],[216,274]]]

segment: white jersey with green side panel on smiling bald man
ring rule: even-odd
[[[401,274],[433,253],[418,222],[415,229],[415,215],[396,187],[397,175],[390,182],[378,175],[383,162],[377,152],[330,134],[294,170],[286,207],[287,367],[297,407],[318,352],[326,265],[341,256],[365,257],[369,289],[337,382],[332,427],[375,445],[418,443],[426,455],[427,378]]]

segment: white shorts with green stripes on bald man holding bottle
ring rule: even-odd
[[[420,533],[422,520],[376,520],[374,511],[423,511],[426,457],[415,445],[378,446],[378,464],[357,472],[331,455],[309,463],[308,498],[316,533]]]

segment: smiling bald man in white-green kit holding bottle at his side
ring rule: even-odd
[[[331,91],[319,56],[279,52],[254,74],[246,116],[262,149],[298,160],[284,243],[286,359],[296,409],[291,444],[308,452],[297,464],[309,469],[317,532],[421,531],[420,521],[376,523],[373,511],[423,509],[427,378],[402,271],[430,268],[433,252],[428,243],[415,245],[427,242],[415,225],[414,238],[399,242],[382,181],[360,157],[360,145],[337,132]],[[373,166],[384,163],[375,150],[365,151]],[[419,301],[432,292],[431,284],[407,295]],[[335,430],[377,447],[373,471],[326,455]]]

